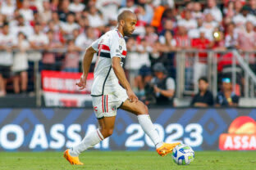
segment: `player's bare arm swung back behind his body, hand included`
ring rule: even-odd
[[[97,52],[94,50],[94,47],[90,46],[85,51],[85,56],[83,59],[83,74],[80,78],[80,82],[76,83],[78,87],[80,87],[80,90],[85,89],[86,87],[86,79],[89,73],[89,66],[92,63],[92,60],[94,58],[94,53]]]

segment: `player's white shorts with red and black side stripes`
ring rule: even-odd
[[[121,88],[117,92],[103,96],[93,96],[94,113],[97,119],[117,115],[117,109],[128,99],[126,90]]]

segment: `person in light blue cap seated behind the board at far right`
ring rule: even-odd
[[[239,96],[232,92],[231,78],[222,78],[222,92],[217,93],[216,106],[237,106]]]

